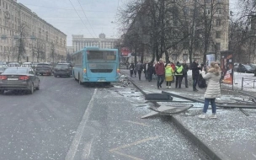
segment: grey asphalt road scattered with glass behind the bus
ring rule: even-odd
[[[131,85],[79,85],[40,76],[34,94],[0,96],[0,159],[205,159]]]

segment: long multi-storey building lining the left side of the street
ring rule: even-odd
[[[0,0],[0,60],[65,61],[67,35],[17,0]],[[21,47],[23,46],[23,47]]]

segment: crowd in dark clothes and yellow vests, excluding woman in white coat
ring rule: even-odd
[[[157,62],[148,62],[144,64],[138,61],[136,64],[131,63],[127,68],[130,70],[130,76],[136,77],[138,75],[141,81],[141,73],[145,74],[145,78],[148,82],[152,82],[152,79],[157,79],[157,88],[162,88],[162,84],[166,82],[166,88],[171,88],[171,84],[175,83],[175,88],[181,88],[181,83],[184,79],[185,88],[189,88],[188,84],[188,71],[189,66],[186,61],[181,64],[179,61],[174,64],[171,61],[165,63],[162,59]],[[200,78],[200,70],[202,67],[198,64],[198,61],[193,61],[191,65],[193,75],[193,90],[198,91],[196,85]]]

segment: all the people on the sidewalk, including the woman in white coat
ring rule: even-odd
[[[188,85],[188,71],[189,66],[186,61],[182,64],[179,61],[176,62],[176,65],[173,62],[168,61],[164,63],[162,59],[152,63],[146,61],[144,64],[141,61],[138,61],[135,65],[131,63],[129,66],[130,76],[133,75],[136,77],[138,73],[139,80],[141,81],[141,73],[144,72],[146,80],[148,82],[152,81],[152,76],[157,79],[157,88],[162,88],[162,84],[166,82],[166,88],[171,88],[171,83],[175,82],[175,88],[181,88],[181,83],[184,79],[185,88],[189,88]],[[206,112],[211,103],[212,115],[210,118],[216,119],[216,103],[215,100],[217,97],[221,96],[220,88],[220,78],[221,70],[215,61],[212,61],[210,67],[205,67],[204,65],[199,65],[198,60],[192,62],[190,69],[192,70],[193,78],[193,91],[198,91],[196,88],[197,85],[202,85],[203,88],[206,87],[205,80],[208,80],[207,88],[205,91],[205,104],[202,111],[202,114],[199,115],[200,119],[206,118]],[[206,72],[205,72],[206,71]],[[175,79],[175,81],[174,81]]]

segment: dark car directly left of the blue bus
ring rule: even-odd
[[[53,75],[54,77],[70,77],[72,75],[72,65],[70,63],[58,63],[53,69]]]

